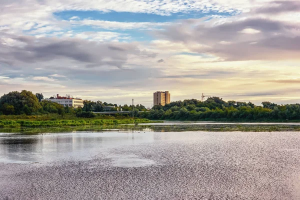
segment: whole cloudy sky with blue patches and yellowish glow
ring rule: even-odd
[[[0,95],[300,103],[299,0],[0,0]]]

